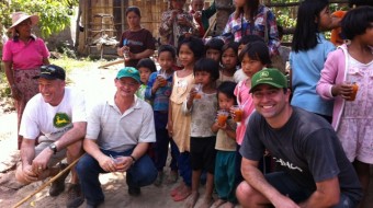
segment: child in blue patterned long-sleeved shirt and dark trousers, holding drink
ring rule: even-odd
[[[158,49],[158,63],[160,70],[152,72],[146,91],[145,97],[152,102],[156,143],[154,146],[155,163],[158,170],[158,176],[155,182],[159,186],[163,181],[163,167],[166,165],[168,148],[171,147],[171,172],[169,182],[176,183],[178,180],[178,157],[179,150],[172,138],[169,137],[166,129],[168,122],[169,97],[172,86],[172,66],[176,61],[176,49],[170,45],[161,45]]]

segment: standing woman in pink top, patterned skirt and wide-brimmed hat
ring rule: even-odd
[[[33,78],[39,74],[41,66],[49,65],[46,45],[31,33],[38,19],[24,12],[12,13],[12,25],[8,30],[12,38],[2,50],[2,61],[18,114],[18,130],[27,101],[38,93],[37,80]],[[22,137],[19,136],[19,148],[21,142]]]

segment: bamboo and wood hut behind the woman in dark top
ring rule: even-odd
[[[206,7],[212,2],[205,0]],[[142,26],[158,39],[161,14],[169,8],[169,0],[80,0],[76,38],[78,53],[116,56],[115,41],[128,28],[124,11],[131,5],[140,9]],[[189,4],[185,10],[188,8]]]

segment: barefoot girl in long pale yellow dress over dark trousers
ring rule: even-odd
[[[178,55],[184,68],[173,73],[167,126],[168,132],[180,152],[178,165],[180,176],[183,178],[183,182],[171,190],[171,196],[176,201],[185,199],[192,192],[192,170],[189,155],[191,116],[184,115],[181,107],[194,84],[194,62],[204,55],[203,42],[196,37],[182,36],[179,43]]]

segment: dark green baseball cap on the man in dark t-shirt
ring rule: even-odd
[[[252,76],[250,93],[252,93],[259,84],[269,84],[274,88],[287,88],[287,80],[279,69],[268,68],[260,70]]]

